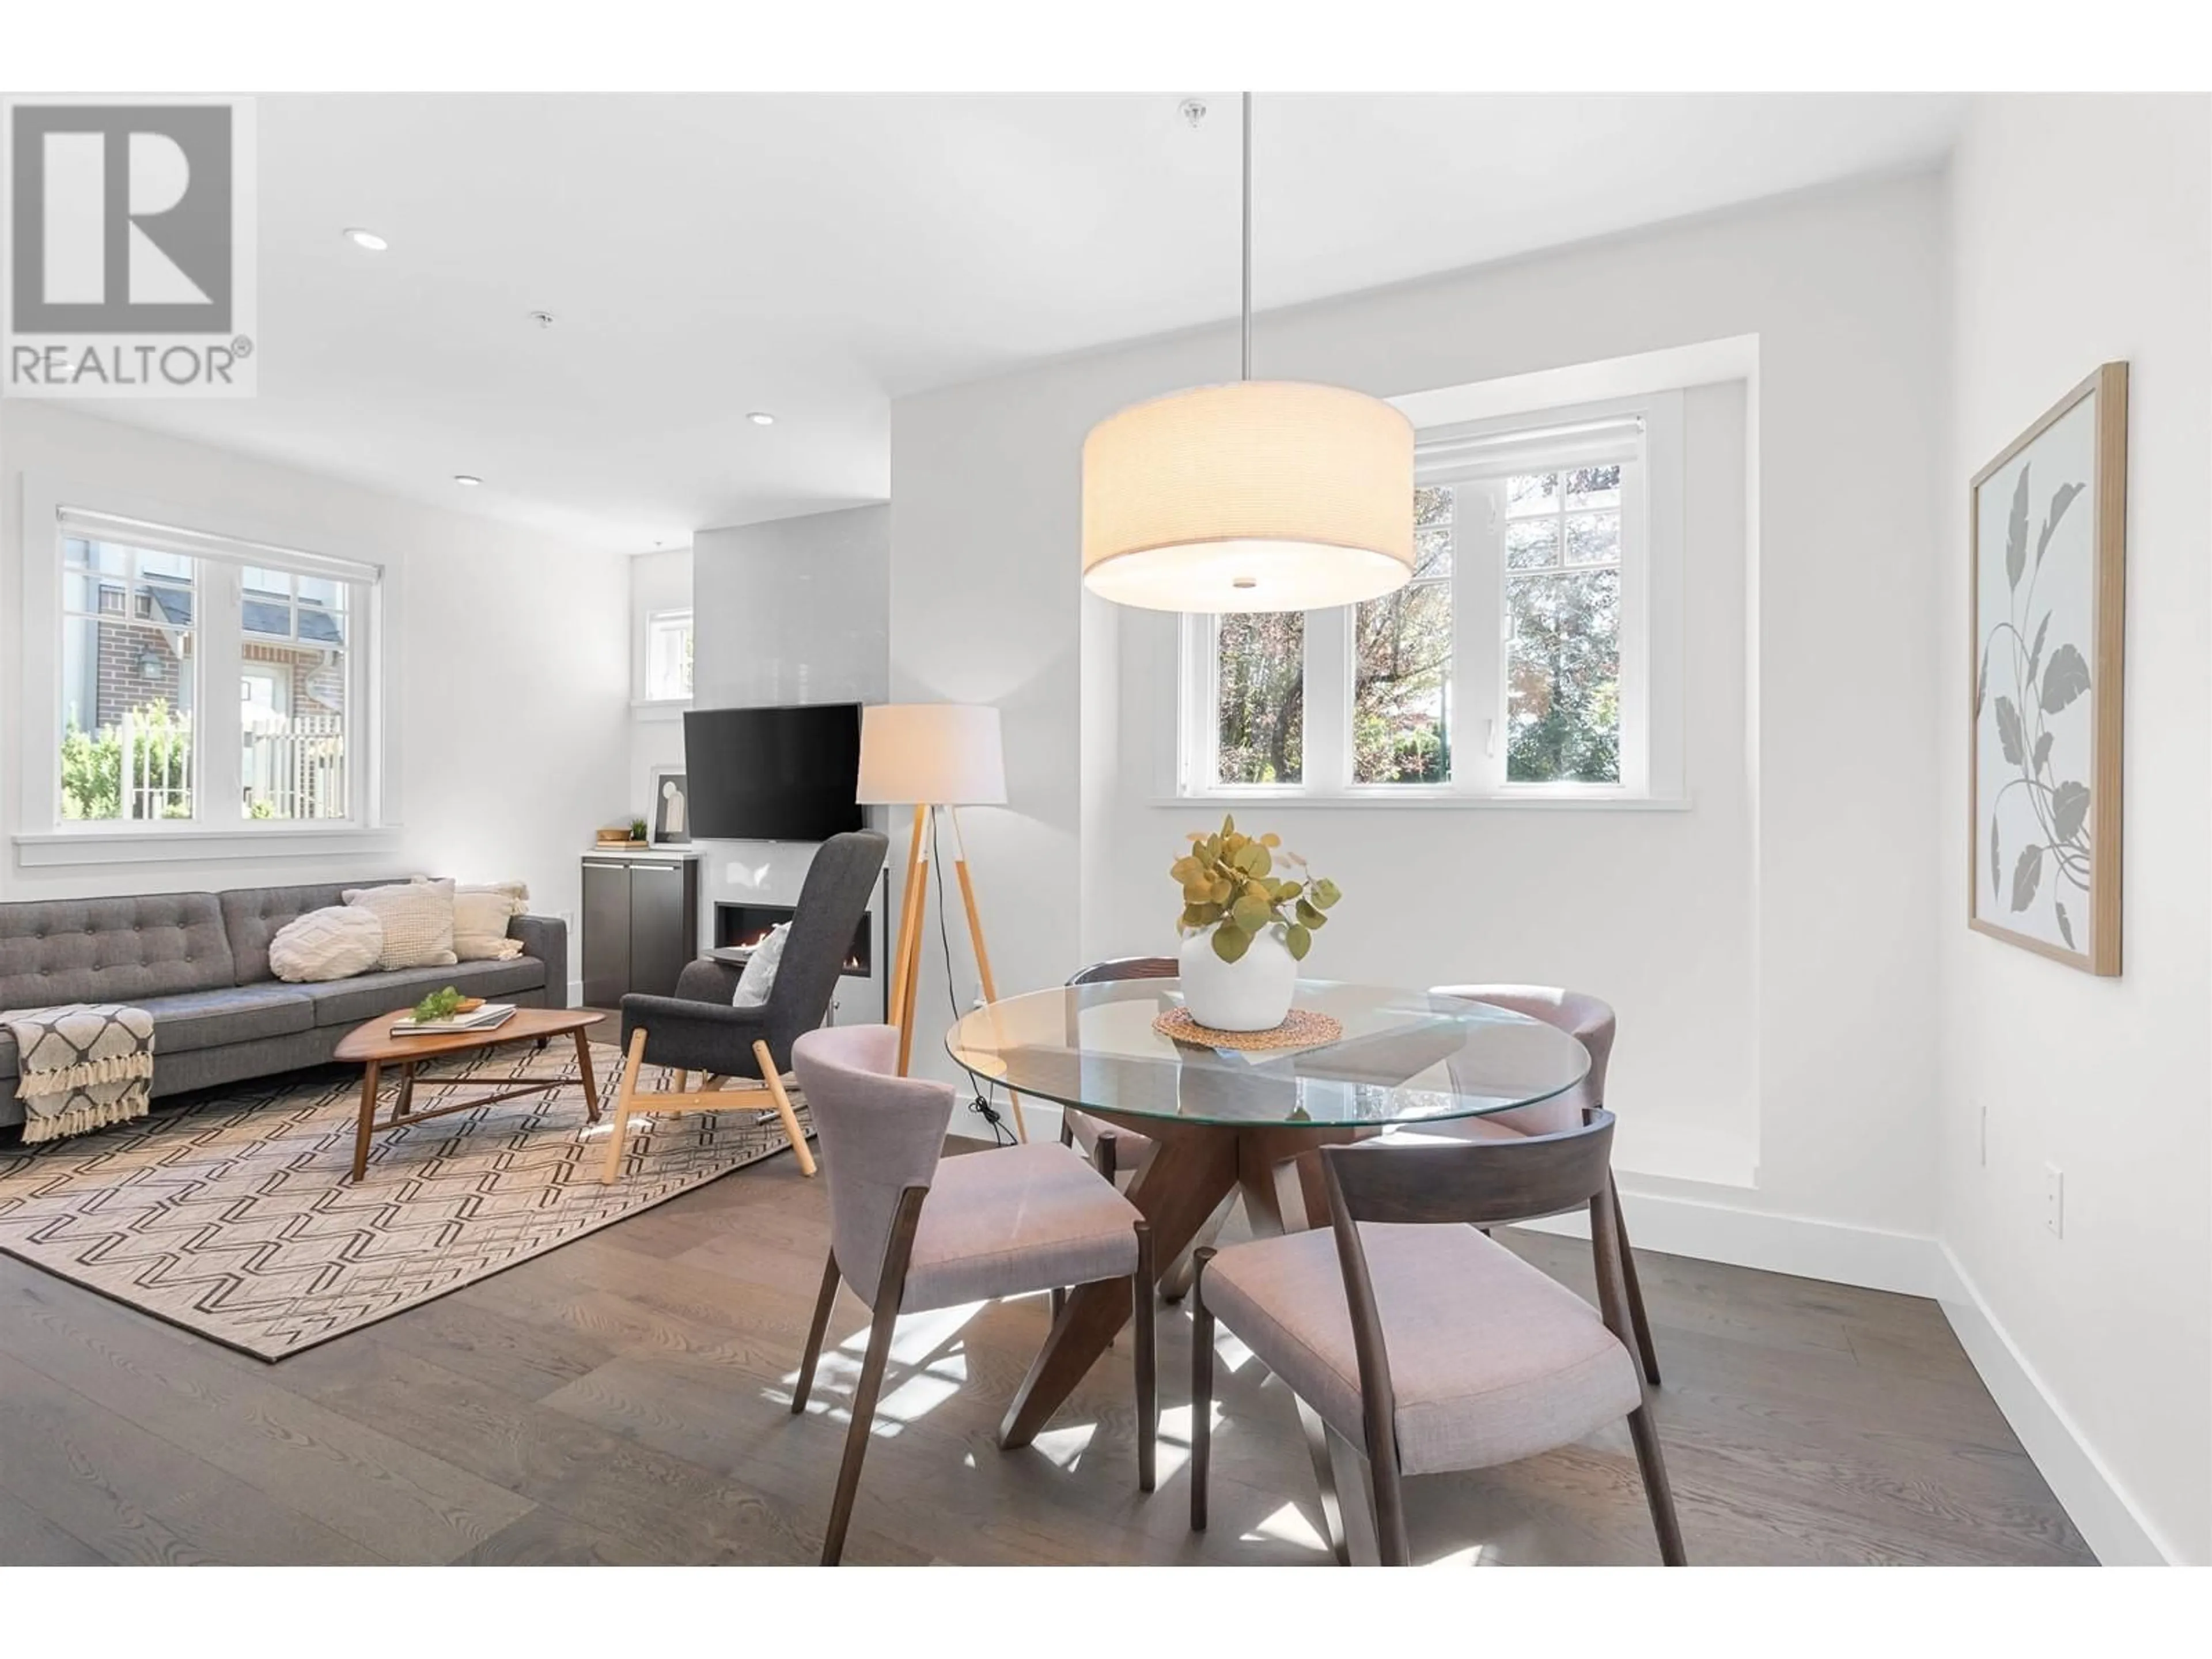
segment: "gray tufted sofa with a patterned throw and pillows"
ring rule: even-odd
[[[347,887],[234,887],[226,894],[51,898],[0,905],[0,1009],[131,1002],[153,1013],[153,1093],[232,1084],[319,1066],[338,1037],[442,984],[531,1009],[568,1006],[568,929],[518,916],[509,962],[361,973],[323,984],[270,975],[270,938],[294,916],[336,905]],[[0,1031],[0,1128],[22,1121],[15,1042]]]

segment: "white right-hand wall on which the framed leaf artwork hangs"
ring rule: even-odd
[[[2203,97],[1975,106],[1951,181],[1953,427],[1931,703],[1942,787],[1929,830],[1942,1232],[2044,1396],[2015,1407],[2000,1387],[2000,1400],[2106,1559],[2199,1564],[2212,1562],[2208,204]],[[2097,980],[1964,925],[1964,524],[1966,480],[2112,358],[2130,363],[2126,889],[2124,973]],[[2046,1164],[2064,1170],[2064,1237],[2044,1230]],[[2044,1405],[2077,1447],[2037,1444]]]

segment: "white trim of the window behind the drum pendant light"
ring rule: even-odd
[[[1491,757],[1473,730],[1462,728],[1449,783],[1352,783],[1352,608],[1310,611],[1305,617],[1305,779],[1301,783],[1214,783],[1219,661],[1214,619],[1186,615],[1179,628],[1175,710],[1175,794],[1183,801],[1263,801],[1267,805],[1376,805],[1376,807],[1548,807],[1548,810],[1679,810],[1688,805],[1683,776],[1683,447],[1681,392],[1650,392],[1599,403],[1531,407],[1458,420],[1453,403],[1482,407],[1489,387],[1458,387],[1420,396],[1429,420],[1416,438],[1420,482],[1460,482],[1502,469],[1504,438],[1531,431],[1557,453],[1562,429],[1644,422],[1644,467],[1624,491],[1621,524],[1637,520],[1639,555],[1621,566],[1621,681],[1624,730],[1619,783],[1506,783],[1502,754]],[[1464,394],[1464,396],[1462,396]],[[1535,434],[1542,434],[1537,438]],[[1471,449],[1480,451],[1469,453]],[[1458,453],[1455,453],[1458,451]],[[1491,686],[1491,708],[1504,721],[1502,551],[1480,560],[1493,582],[1464,580],[1453,562],[1453,684]],[[1495,588],[1495,591],[1491,591]],[[1471,717],[1469,726],[1473,719]]]

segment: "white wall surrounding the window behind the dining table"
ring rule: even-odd
[[[1750,575],[1728,568],[1741,540],[1728,484],[1694,507],[1710,535],[1692,557],[1708,646],[1692,653],[1692,812],[1301,810],[1283,830],[1338,869],[1451,847],[1462,896],[1420,920],[1383,909],[1380,874],[1347,880],[1323,971],[1557,975],[1608,993],[1624,1121],[1756,1121],[1752,1190],[1644,1175],[1646,1190],[1876,1243],[1924,1243],[1936,1223],[1929,1159],[1898,1157],[1933,1108],[1933,869],[1896,803],[1933,790],[1940,210],[1936,179],[1887,181],[1267,314],[1256,330],[1261,374],[1380,396],[1759,336],[1743,416],[1761,456]],[[1002,991],[1170,938],[1157,867],[1190,807],[1141,805],[1128,710],[1086,706],[1113,677],[1084,653],[1124,650],[1133,624],[1084,622],[1079,449],[1124,403],[1234,367],[1234,334],[1210,330],[891,407],[894,692],[995,701],[1006,721],[1013,801],[969,814]],[[1701,405],[1705,438],[1725,447],[1732,405]],[[1119,763],[1108,772],[1084,743],[1117,743]],[[1652,872],[1674,885],[1652,894]],[[1515,889],[1551,905],[1509,900]],[[942,991],[922,1006],[940,1009]],[[918,1048],[936,1051],[927,1026]],[[1681,1137],[1646,1141],[1652,1168],[1683,1168]],[[1725,1146],[1708,1152],[1703,1168],[1728,1164]]]

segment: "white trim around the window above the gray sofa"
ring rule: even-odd
[[[307,573],[365,584],[358,639],[349,648],[349,692],[356,697],[358,768],[347,783],[354,814],[343,821],[217,823],[208,816],[179,818],[148,830],[144,823],[69,823],[62,818],[60,785],[60,672],[62,672],[62,520],[97,522],[108,540],[161,551],[237,560],[241,551],[263,551]],[[190,526],[190,529],[175,529]],[[40,865],[128,865],[128,863],[219,863],[254,858],[321,858],[356,852],[389,852],[403,836],[398,772],[400,717],[392,690],[392,619],[400,615],[400,580],[394,566],[367,549],[343,544],[314,524],[270,515],[257,507],[208,507],[146,495],[104,480],[73,480],[44,473],[22,476],[22,604],[13,617],[13,655],[20,664],[15,710],[22,737],[18,752],[18,823],[9,836],[20,867]],[[305,549],[319,549],[307,553]],[[215,560],[210,557],[210,566]],[[239,568],[239,566],[223,566]],[[237,582],[232,575],[230,582]],[[201,582],[199,613],[208,628],[234,615],[212,604]],[[230,624],[234,628],[234,624]],[[206,648],[206,641],[204,641]],[[237,757],[215,745],[210,768],[195,779],[195,807],[237,796]],[[217,794],[221,772],[230,792]]]

